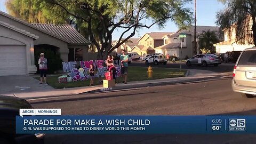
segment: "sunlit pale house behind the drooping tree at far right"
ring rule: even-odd
[[[248,31],[250,31],[252,28],[252,25],[248,28]],[[243,51],[246,48],[253,47],[253,43],[249,43],[248,41],[245,42],[245,44],[239,44],[236,41],[236,27],[231,27],[231,35],[228,35],[229,29],[224,29],[224,41],[214,44],[216,47],[217,53],[226,53],[227,51]],[[252,31],[250,31],[247,35],[252,35]]]

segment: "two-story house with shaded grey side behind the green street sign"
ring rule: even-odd
[[[162,37],[163,45],[155,47],[156,53],[164,55],[175,54],[178,58],[191,58],[194,55],[194,26],[189,26],[187,29],[180,29],[174,34],[168,34]],[[219,27],[215,26],[196,26],[196,32],[199,36],[203,31],[219,31]],[[185,38],[179,38],[180,34],[186,34]],[[182,44],[182,49],[181,49]]]

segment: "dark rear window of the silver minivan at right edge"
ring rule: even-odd
[[[237,65],[256,65],[256,50],[244,51]]]

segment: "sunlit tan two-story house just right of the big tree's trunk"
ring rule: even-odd
[[[163,45],[163,36],[173,33],[151,32],[146,33],[138,40],[138,45],[133,46],[132,52],[138,52],[141,55],[155,53],[155,47]]]

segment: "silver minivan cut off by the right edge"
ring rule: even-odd
[[[231,82],[232,89],[244,97],[256,95],[256,47],[245,49],[236,61]]]

